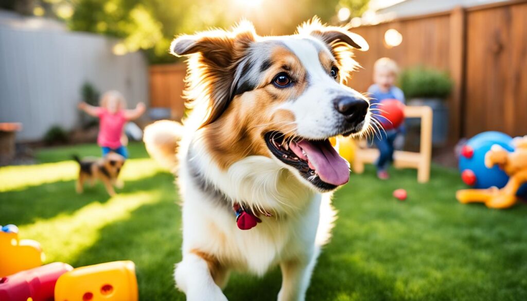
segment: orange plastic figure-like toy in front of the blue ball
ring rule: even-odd
[[[485,154],[485,166],[497,165],[509,175],[509,182],[502,189],[463,189],[458,190],[456,198],[462,203],[483,202],[489,208],[502,209],[513,206],[518,198],[516,191],[527,182],[527,136],[515,138],[516,149],[509,152],[494,144]]]

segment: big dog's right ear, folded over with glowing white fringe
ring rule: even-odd
[[[320,22],[318,17],[314,17],[300,25],[298,32],[317,37],[330,48],[345,44],[360,51],[367,51],[369,45],[366,40],[362,36],[350,32],[349,29],[348,26],[326,26]]]

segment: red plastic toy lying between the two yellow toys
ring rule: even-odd
[[[2,277],[0,278],[0,300],[53,300],[58,277],[72,269],[68,264],[52,263]]]

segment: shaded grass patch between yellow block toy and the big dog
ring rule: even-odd
[[[99,239],[70,264],[132,260],[141,300],[184,300],[172,277],[174,264],[181,260],[181,213],[174,199],[173,194],[164,194],[132,211],[129,218],[103,227]]]

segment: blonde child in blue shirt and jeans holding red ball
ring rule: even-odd
[[[395,86],[398,70],[397,63],[392,59],[388,59],[388,57],[383,57],[375,62],[374,84],[368,89],[369,97],[372,98],[370,100],[371,108],[382,110],[382,106],[378,104],[385,99],[396,99],[402,103],[405,102],[403,91]],[[375,136],[373,139],[379,150],[379,158],[375,163],[379,179],[386,180],[389,178],[388,165],[389,162],[393,161],[394,141],[401,133],[404,133],[403,127],[386,130],[380,134],[380,137]]]

